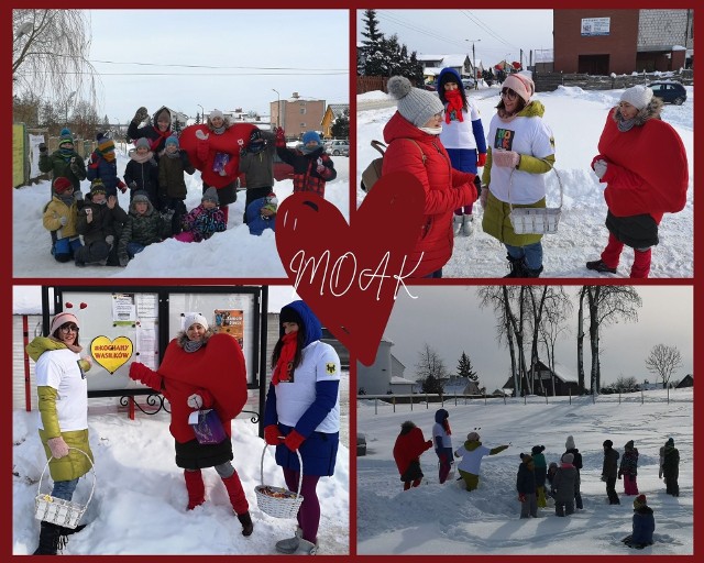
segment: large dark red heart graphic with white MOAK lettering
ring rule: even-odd
[[[404,280],[416,264],[425,190],[407,172],[383,176],[348,224],[311,192],[287,197],[276,216],[276,247],[297,294],[365,365],[376,351]],[[400,279],[399,279],[400,278]]]

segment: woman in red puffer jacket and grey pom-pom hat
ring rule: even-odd
[[[388,147],[382,175],[403,170],[421,181],[424,223],[408,263],[418,265],[411,277],[440,278],[452,256],[454,210],[476,201],[475,175],[452,168],[439,137],[444,107],[436,93],[411,87],[403,76],[392,76],[387,88],[398,100],[398,111],[384,126]]]

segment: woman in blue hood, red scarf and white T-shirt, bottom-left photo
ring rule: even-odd
[[[272,382],[264,409],[264,439],[276,445],[276,463],[286,486],[298,490],[302,471],[298,529],[276,543],[279,553],[318,551],[318,481],[334,473],[340,442],[340,357],[320,342],[320,321],[304,301],[282,309],[280,338],[272,354]],[[298,463],[300,453],[302,468]]]

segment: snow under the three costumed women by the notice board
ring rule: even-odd
[[[341,432],[336,473],[321,477],[318,484],[321,555],[350,552],[349,383],[345,372],[340,382]],[[135,420],[130,420],[125,411],[108,412],[99,402],[91,399],[88,412],[96,493],[81,521],[89,525],[69,537],[64,554],[273,555],[276,541],[293,536],[295,520],[272,518],[257,508],[254,487],[260,485],[264,440],[257,435],[257,424],[244,415],[232,423],[232,464],[254,522],[254,533],[249,538],[241,534],[242,527],[213,468],[202,472],[206,503],[186,510],[184,473],[174,462],[168,413],[146,416],[138,410]],[[40,523],[34,519],[34,497],[46,457],[36,431],[38,413],[13,410],[12,415],[12,553],[25,555],[37,544]],[[266,450],[264,483],[285,486],[274,449]],[[42,490],[48,492],[50,484],[44,481]],[[89,477],[80,479],[75,501],[85,504],[89,485]]]

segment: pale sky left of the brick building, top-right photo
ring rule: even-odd
[[[363,15],[360,10],[358,42],[364,38]],[[376,16],[380,31],[396,33],[409,53],[471,55],[474,40],[477,64],[493,66],[519,60],[520,49],[527,65],[530,49],[552,48],[552,10],[377,10]]]

